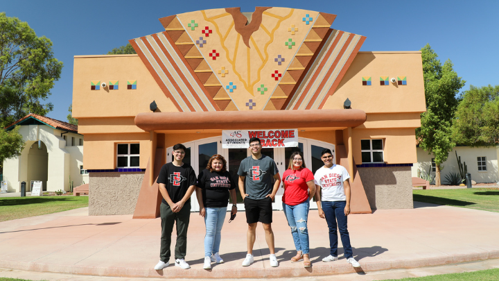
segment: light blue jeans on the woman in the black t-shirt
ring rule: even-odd
[[[211,208],[206,207],[204,215],[204,225],[206,225],[207,233],[204,236],[204,256],[218,253],[220,250],[220,231],[222,231],[223,221],[227,213],[227,207]]]

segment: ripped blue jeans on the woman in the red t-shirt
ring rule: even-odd
[[[293,241],[295,242],[295,248],[297,251],[301,250],[301,253],[308,254],[308,209],[310,203],[308,198],[304,203],[300,203],[295,206],[286,205],[283,203],[284,214],[286,214],[286,219],[288,219],[288,225],[291,228],[291,235]],[[299,231],[298,231],[299,230]]]

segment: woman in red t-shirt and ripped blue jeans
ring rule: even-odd
[[[283,185],[283,210],[297,250],[297,255],[291,258],[291,262],[303,259],[304,266],[309,267],[307,221],[309,201],[315,194],[315,184],[313,173],[305,167],[299,151],[291,154],[288,169],[283,174]]]

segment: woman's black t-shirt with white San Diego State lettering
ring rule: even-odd
[[[204,207],[227,207],[229,190],[235,189],[236,184],[228,171],[217,172],[204,169],[198,176],[198,187],[202,189]]]

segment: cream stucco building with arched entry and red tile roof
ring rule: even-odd
[[[19,157],[3,160],[3,180],[8,192],[19,192],[21,182],[31,191],[31,182],[42,181],[43,191],[69,191],[88,182],[83,170],[83,135],[78,126],[30,113],[10,124],[6,130],[20,126],[26,143]]]

